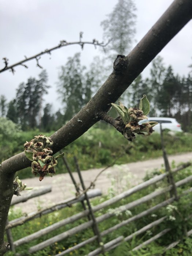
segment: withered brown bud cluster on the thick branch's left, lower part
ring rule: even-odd
[[[52,144],[52,139],[45,135],[35,136],[30,142],[24,144],[26,157],[33,161],[31,163],[32,173],[35,176],[40,175],[39,181],[42,181],[47,174],[51,177],[55,174],[56,159],[64,155],[63,153],[53,157],[53,151],[49,148]]]

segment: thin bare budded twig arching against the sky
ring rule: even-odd
[[[0,69],[0,73],[6,71],[6,70],[8,70],[8,69],[11,69],[11,72],[14,74],[14,72],[15,72],[15,69],[14,69],[14,68],[15,68],[16,66],[22,65],[23,67],[28,68],[27,65],[25,65],[25,64],[23,64],[23,63],[25,63],[25,62],[27,62],[27,61],[30,61],[30,60],[33,60],[33,59],[36,60],[36,62],[37,62],[37,67],[43,68],[43,67],[39,64],[39,59],[41,58],[41,56],[42,56],[43,54],[50,54],[50,55],[51,55],[51,52],[52,52],[53,50],[57,50],[57,49],[62,48],[62,47],[64,47],[64,46],[80,45],[80,47],[81,47],[82,50],[83,50],[83,46],[84,46],[85,44],[91,44],[91,45],[94,45],[95,47],[97,47],[97,46],[105,47],[106,45],[109,44],[109,42],[107,42],[106,44],[104,44],[103,42],[99,43],[99,42],[98,42],[97,40],[95,40],[95,39],[93,39],[92,42],[87,42],[87,41],[82,42],[82,41],[81,41],[81,39],[82,39],[82,32],[79,33],[79,38],[80,38],[80,39],[79,39],[79,42],[67,42],[67,41],[65,41],[65,40],[61,40],[60,43],[59,43],[59,45],[54,46],[54,47],[52,47],[52,48],[50,48],[50,49],[46,49],[46,50],[44,50],[44,51],[42,51],[42,52],[40,52],[40,53],[37,53],[37,54],[35,54],[35,55],[33,55],[33,56],[29,57],[29,58],[27,58],[26,56],[24,56],[25,59],[20,60],[20,61],[18,61],[17,63],[12,64],[12,65],[10,65],[10,66],[8,66],[8,59],[7,59],[6,57],[4,57],[3,60],[4,60],[5,67],[2,68],[2,69]]]

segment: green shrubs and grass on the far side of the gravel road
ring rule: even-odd
[[[50,136],[53,132],[46,133]],[[6,139],[5,142],[0,142],[2,154],[0,161],[23,151],[23,144],[30,141],[35,135],[42,132],[35,130],[29,132],[18,133],[14,143]],[[164,132],[164,140],[167,154],[177,154],[191,151],[192,134],[177,133],[172,136]],[[80,138],[69,144],[63,150],[65,157],[69,162],[71,170],[76,170],[74,156],[78,158],[81,170],[91,168],[99,168],[110,165],[115,158],[116,164],[143,161],[147,159],[157,158],[162,156],[161,139],[158,133],[155,132],[151,136],[138,135],[136,140],[128,142],[118,133],[113,127],[108,129],[90,128]],[[56,168],[56,174],[67,172],[63,161],[59,159]],[[34,177],[31,173],[31,168],[26,168],[19,171],[19,178]]]

